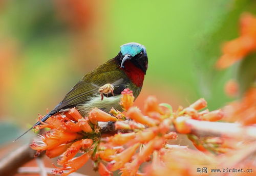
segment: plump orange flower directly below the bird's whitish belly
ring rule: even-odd
[[[89,113],[89,119],[93,124],[97,124],[98,121],[116,121],[117,118],[111,116],[110,114],[98,109],[94,108]]]

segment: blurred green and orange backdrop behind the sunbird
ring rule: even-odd
[[[18,136],[13,124],[31,127],[127,42],[145,45],[149,59],[138,106],[156,95],[174,109],[200,97],[210,110],[223,107],[236,65],[218,71],[215,63],[245,11],[256,12],[255,1],[0,1],[1,131],[13,129],[2,142]]]

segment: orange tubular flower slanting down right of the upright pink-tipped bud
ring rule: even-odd
[[[127,116],[129,116],[131,119],[142,123],[142,124],[146,124],[148,126],[154,126],[156,125],[156,120],[146,117],[142,114],[142,112],[136,108],[136,107],[132,107],[127,111]]]

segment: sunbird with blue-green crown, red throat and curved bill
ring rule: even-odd
[[[121,111],[119,105],[121,92],[129,88],[137,98],[143,85],[147,66],[146,48],[142,44],[132,42],[121,45],[121,50],[116,57],[82,77],[63,100],[33,127],[45,122],[52,115],[68,111],[73,107],[82,116],[86,116],[94,107],[105,112],[109,112],[112,107]],[[103,92],[107,85],[110,85],[112,89],[109,92]]]

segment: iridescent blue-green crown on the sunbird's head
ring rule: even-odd
[[[139,43],[126,43],[121,46],[122,55],[131,55],[132,57],[136,56],[140,52],[146,53],[146,48]]]

